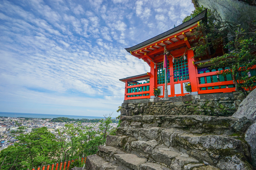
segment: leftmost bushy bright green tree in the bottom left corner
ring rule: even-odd
[[[1,151],[1,170],[26,170],[57,161],[56,138],[46,127],[34,129],[30,134],[20,134],[17,139],[19,143]]]

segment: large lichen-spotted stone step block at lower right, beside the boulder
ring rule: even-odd
[[[251,169],[249,149],[241,140],[223,135],[172,134],[170,145],[220,169]],[[225,168],[232,167],[232,168]]]

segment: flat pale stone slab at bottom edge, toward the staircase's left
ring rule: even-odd
[[[119,162],[119,164],[126,166],[133,170],[139,170],[140,165],[147,162],[146,158],[139,158],[135,154],[114,154],[115,160]]]

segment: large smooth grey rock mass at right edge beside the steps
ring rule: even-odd
[[[256,169],[256,89],[241,102],[238,110],[232,115],[234,118],[246,117],[252,121],[245,132],[245,140],[251,147],[252,165]]]

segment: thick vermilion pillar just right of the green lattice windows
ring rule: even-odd
[[[197,69],[193,65],[194,52],[193,52],[193,50],[188,50],[187,54],[188,54],[187,55],[188,56],[188,72],[189,72],[189,76],[190,76],[191,90],[192,90],[192,92],[198,92],[197,78],[196,78]]]

